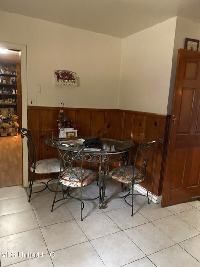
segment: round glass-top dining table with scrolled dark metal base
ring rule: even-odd
[[[65,139],[65,138],[47,138],[45,140],[45,144],[47,146],[50,146],[52,148],[56,148],[59,146],[59,149],[66,151],[67,153],[72,153],[78,151],[76,150],[76,144],[83,144],[83,141],[90,139],[90,138],[97,138],[97,136],[79,136],[76,138],[73,138],[73,140]],[[114,151],[105,151],[103,149],[95,150],[94,148],[84,149],[84,161],[90,162],[91,166],[92,164],[99,163],[99,177],[101,177],[102,173],[102,165],[104,167],[104,175],[103,175],[103,183],[102,186],[99,186],[99,208],[104,206],[104,195],[105,195],[105,189],[108,181],[108,174],[109,174],[109,168],[110,164],[112,162],[123,162],[123,164],[128,161],[128,155],[129,151],[135,146],[134,142],[132,140],[128,141],[120,141],[115,139],[108,139],[108,138],[101,138],[100,140],[102,143],[107,143],[108,145],[115,145]],[[75,144],[75,146],[74,146]],[[102,193],[101,193],[102,188]]]

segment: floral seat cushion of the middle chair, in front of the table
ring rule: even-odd
[[[76,177],[74,172],[81,179],[81,168],[80,167],[71,167],[64,170],[61,175],[60,183],[70,187],[81,187],[81,181]],[[98,172],[93,170],[83,169],[82,173],[82,186],[87,186],[93,183],[99,178]]]

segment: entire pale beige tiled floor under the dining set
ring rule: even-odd
[[[106,195],[119,193],[113,182]],[[96,184],[84,196],[94,192]],[[81,222],[78,201],[51,212],[53,196],[47,189],[28,203],[22,186],[0,188],[1,267],[200,266],[200,201],[161,208],[136,196],[133,217],[122,199],[106,199],[105,209],[86,201]]]

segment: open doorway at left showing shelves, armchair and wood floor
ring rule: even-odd
[[[22,185],[20,51],[0,48],[0,187]]]

